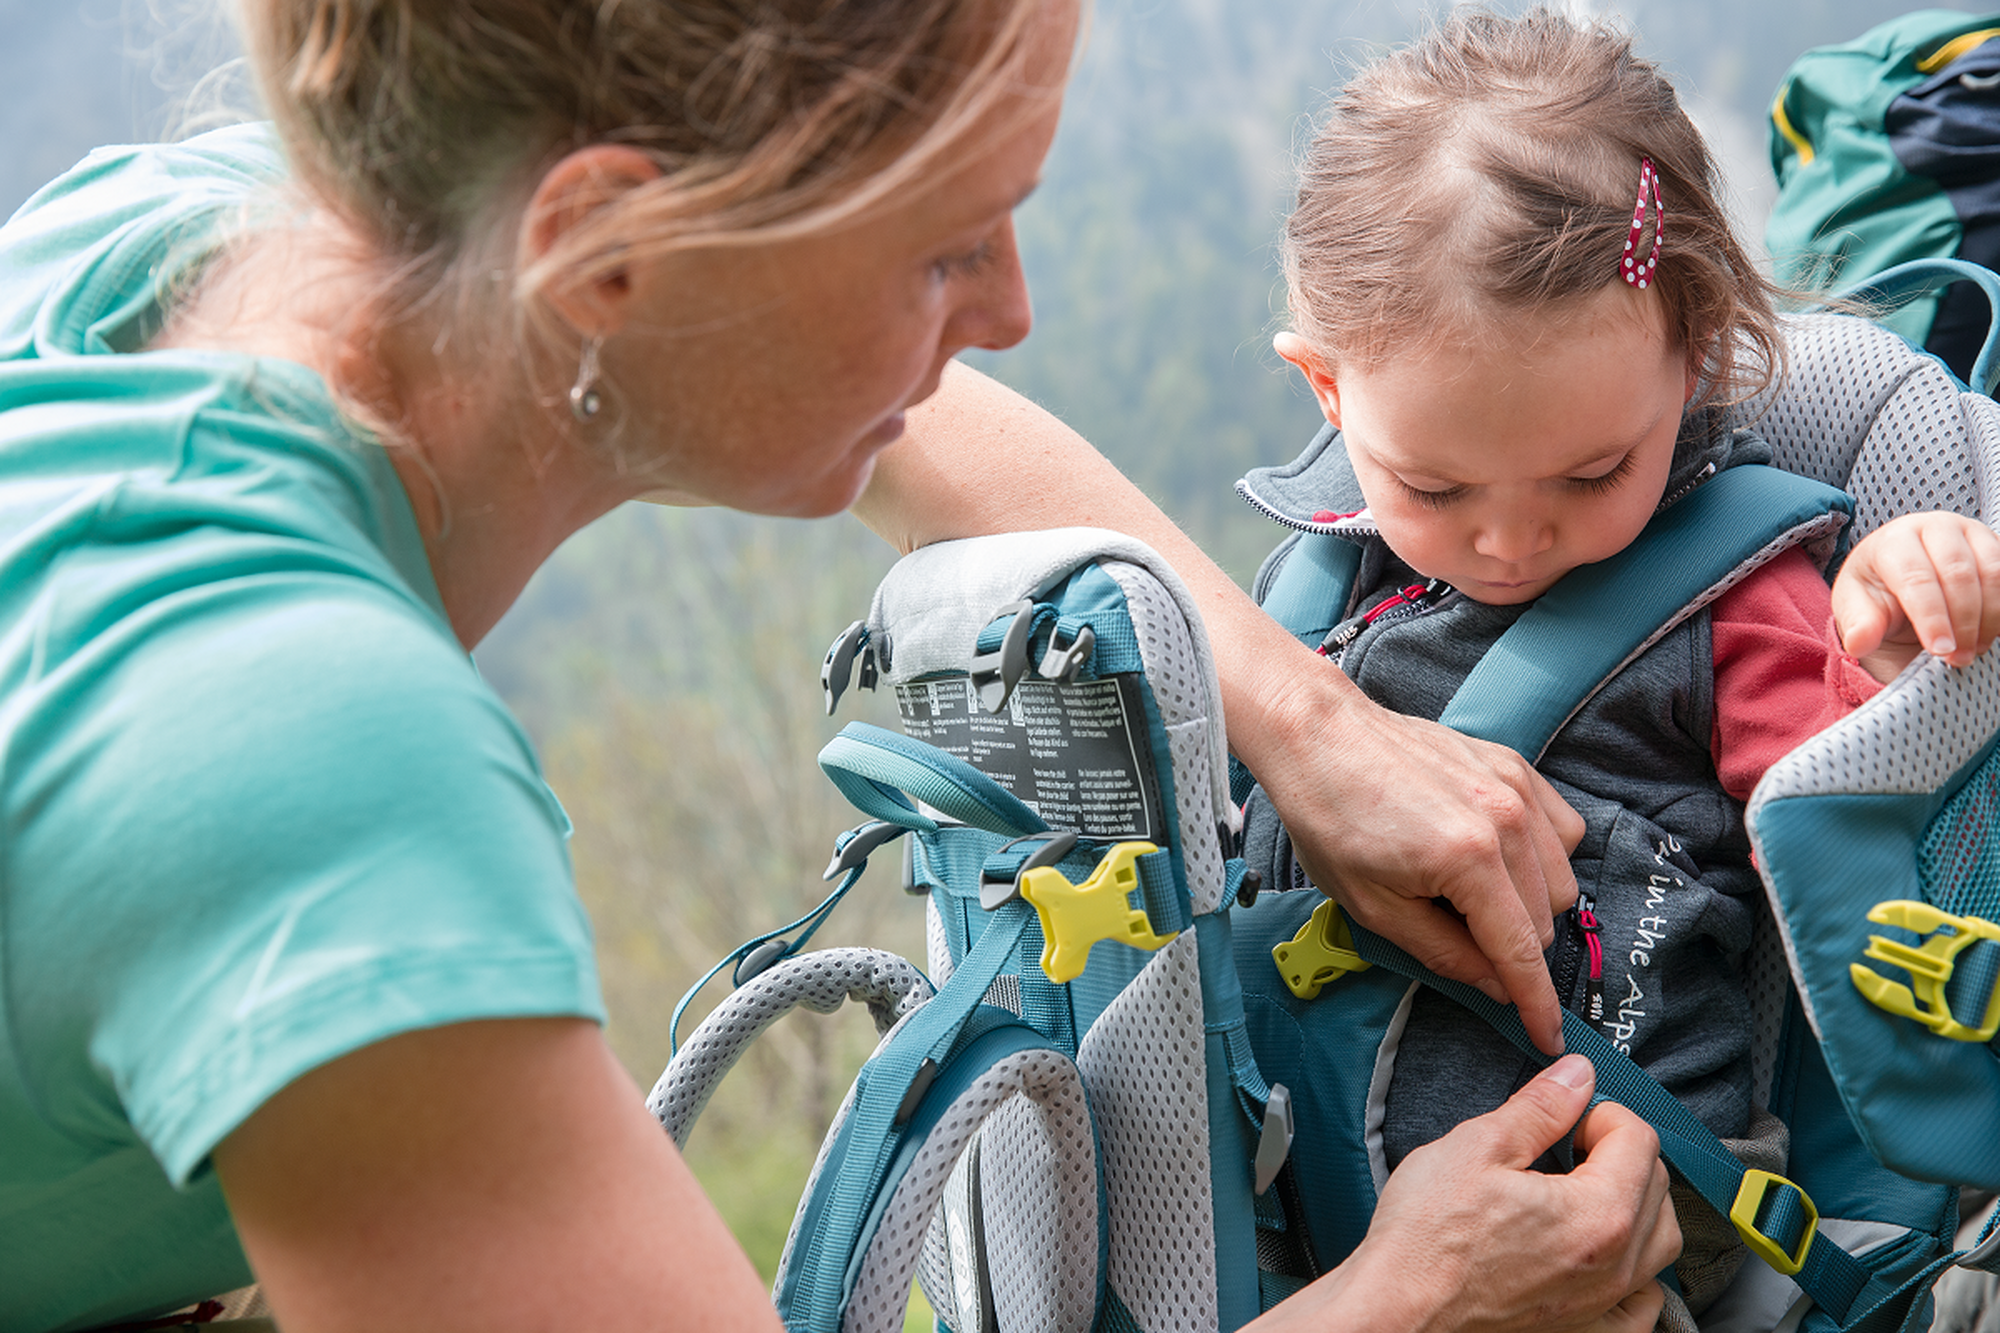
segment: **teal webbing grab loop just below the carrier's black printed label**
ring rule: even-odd
[[[868,723],[842,727],[820,751],[820,769],[858,811],[904,829],[934,833],[938,827],[910,801],[916,797],[988,833],[1018,837],[1048,831],[1040,815],[966,761]]]

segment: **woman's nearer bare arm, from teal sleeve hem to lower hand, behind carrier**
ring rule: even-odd
[[[1646,1333],[1680,1249],[1652,1131],[1558,1061],[1390,1177],[1362,1247],[1260,1329]],[[770,1329],[638,1089],[580,1019],[460,1023],[302,1075],[216,1149],[286,1333]]]

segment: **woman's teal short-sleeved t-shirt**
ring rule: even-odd
[[[440,1023],[602,1021],[568,823],[304,366],[144,352],[284,174],[116,148],[0,228],[0,1333],[250,1281],[208,1155]]]

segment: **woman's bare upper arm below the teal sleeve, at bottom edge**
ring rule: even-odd
[[[582,1019],[364,1047],[282,1089],[214,1161],[286,1333],[780,1329]]]

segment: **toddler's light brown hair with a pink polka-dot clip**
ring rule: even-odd
[[[1708,400],[1784,366],[1772,306],[1672,84],[1600,22],[1456,10],[1334,98],[1300,170],[1284,268],[1296,330],[1372,366],[1620,280],[1640,158],[1666,212],[1658,292]],[[1652,210],[1640,252],[1652,246]]]

